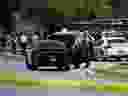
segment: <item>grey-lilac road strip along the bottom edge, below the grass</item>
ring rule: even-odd
[[[44,89],[44,88],[0,88],[2,96],[127,96],[127,94],[98,93],[95,90]]]

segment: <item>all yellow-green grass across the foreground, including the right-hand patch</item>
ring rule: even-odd
[[[107,80],[128,80],[128,72],[115,72],[115,70],[126,70],[124,66],[112,66],[110,70],[104,70],[102,67],[97,68],[97,78]],[[29,74],[22,74],[17,77],[16,72],[0,72],[0,85],[15,84],[16,87],[33,87],[39,86],[41,88],[82,88],[95,89],[97,92],[127,92],[128,83],[112,83],[112,84],[97,84],[96,81],[91,80],[32,80]]]

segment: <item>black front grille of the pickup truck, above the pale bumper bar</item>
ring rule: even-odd
[[[44,51],[33,52],[32,63],[38,66],[57,66],[64,63],[64,51]]]

